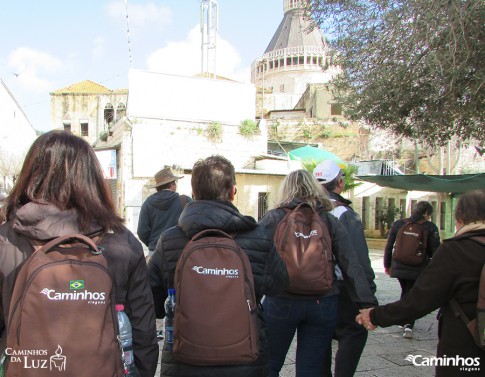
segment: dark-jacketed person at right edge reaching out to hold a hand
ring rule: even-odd
[[[484,375],[485,350],[477,346],[450,301],[456,300],[469,319],[476,318],[485,264],[485,246],[481,243],[485,238],[485,190],[467,192],[458,199],[455,224],[454,237],[441,244],[408,294],[399,301],[361,310],[356,320],[371,330],[412,323],[440,308],[437,357],[430,357],[429,365],[436,366],[437,377],[478,377]],[[426,362],[425,356],[417,359]]]

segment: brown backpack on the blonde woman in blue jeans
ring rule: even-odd
[[[327,225],[309,205],[300,203],[276,226],[274,242],[286,263],[290,293],[322,295],[333,285],[332,239]]]

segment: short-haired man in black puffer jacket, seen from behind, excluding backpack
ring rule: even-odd
[[[231,162],[222,156],[199,160],[192,169],[191,183],[195,200],[187,205],[179,224],[161,235],[148,265],[157,317],[162,318],[164,315],[163,302],[168,288],[173,287],[176,263],[183,248],[195,234],[205,229],[216,228],[235,234],[236,242],[247,253],[251,263],[257,302],[260,302],[263,295],[284,291],[288,285],[288,272],[273,240],[268,238],[252,217],[243,216],[232,204],[236,195],[236,178]],[[266,376],[267,333],[262,321],[260,324],[260,356],[256,361],[238,365],[196,366],[181,363],[170,351],[164,350],[160,375]]]

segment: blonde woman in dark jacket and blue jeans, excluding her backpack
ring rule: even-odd
[[[377,299],[352,249],[350,237],[342,223],[329,213],[333,208],[332,204],[327,193],[311,173],[301,169],[288,174],[281,184],[277,207],[266,213],[260,221],[261,226],[271,237],[274,237],[278,224],[287,211],[295,209],[302,203],[310,206],[312,211],[316,211],[328,229],[333,255],[346,277],[347,289],[355,298],[357,307],[376,305]],[[317,237],[319,232],[312,230],[308,236],[303,234],[300,237]],[[333,263],[330,271],[333,275]],[[322,376],[324,360],[331,348],[339,318],[339,287],[335,277],[332,277],[332,288],[324,294],[303,295],[287,290],[283,294],[266,297],[263,307],[269,328],[270,377],[279,376],[295,332],[297,335],[295,375],[297,377]],[[308,285],[310,284],[309,280]]]

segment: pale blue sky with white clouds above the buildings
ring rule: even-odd
[[[200,72],[200,0],[126,4],[129,37],[124,0],[0,0],[0,78],[35,129],[50,128],[54,90],[83,80],[127,88],[129,47],[133,68]],[[218,5],[217,74],[249,82],[252,61],[283,19],[283,0]]]

